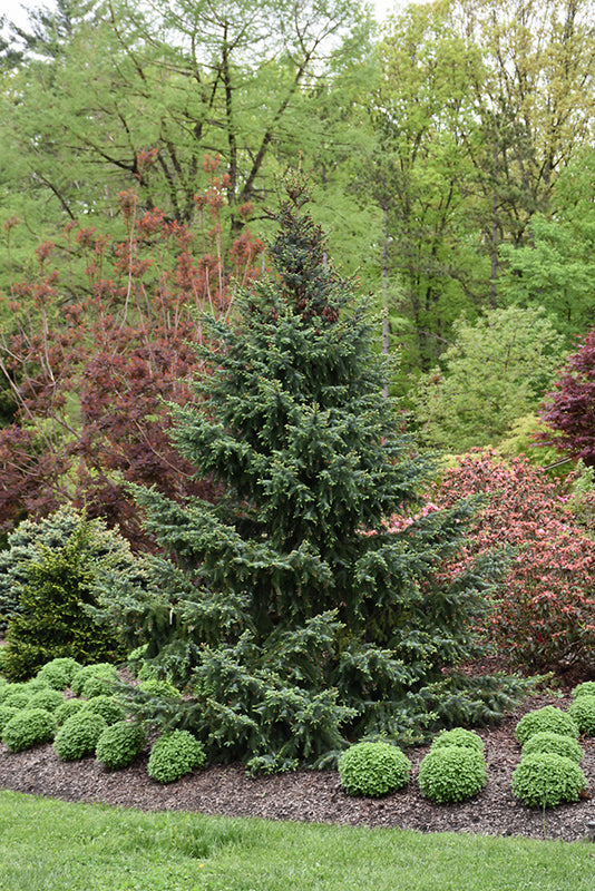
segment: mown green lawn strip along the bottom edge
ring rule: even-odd
[[[0,792],[0,891],[593,891],[595,845],[232,820]]]

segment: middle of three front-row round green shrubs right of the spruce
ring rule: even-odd
[[[464,746],[443,746],[428,752],[419,765],[421,793],[437,804],[472,799],[488,781],[481,752]]]

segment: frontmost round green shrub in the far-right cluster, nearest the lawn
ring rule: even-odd
[[[513,772],[513,794],[529,807],[555,807],[565,801],[578,801],[587,781],[572,758],[552,752],[523,757]]]

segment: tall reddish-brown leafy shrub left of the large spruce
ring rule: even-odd
[[[69,500],[147,547],[126,483],[213,496],[172,447],[166,403],[197,399],[198,313],[230,319],[231,283],[256,274],[263,249],[245,231],[224,254],[223,189],[213,176],[196,196],[197,234],[123,193],[125,237],[69,224],[37,248],[37,275],[11,286],[0,369],[18,411],[0,430],[0,529]]]

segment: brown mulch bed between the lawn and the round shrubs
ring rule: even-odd
[[[130,767],[109,772],[92,757],[62,762],[51,745],[14,754],[0,744],[0,787],[145,811],[196,811],[421,832],[585,839],[587,822],[595,821],[595,799],[588,796],[544,813],[520,804],[510,792],[510,775],[520,760],[514,728],[523,714],[543,705],[566,708],[569,699],[533,697],[497,727],[478,731],[485,742],[488,785],[472,801],[456,805],[432,804],[421,795],[416,777],[427,747],[407,753],[413,764],[409,785],[375,800],[348,795],[335,771],[301,770],[251,779],[241,764],[212,765],[164,786],[147,775],[146,753]],[[581,744],[585,752],[582,766],[595,793],[595,740],[583,738]]]

